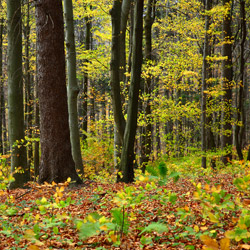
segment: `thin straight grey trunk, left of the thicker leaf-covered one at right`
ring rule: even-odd
[[[212,0],[206,0],[205,3],[205,10],[209,11],[212,8]],[[201,92],[201,150],[203,152],[201,166],[206,168],[206,150],[207,150],[207,80],[209,79],[209,65],[207,61],[207,56],[209,56],[209,26],[210,26],[210,17],[206,15],[205,17],[205,40],[204,40],[204,49],[203,49],[203,65],[202,65],[202,92]]]

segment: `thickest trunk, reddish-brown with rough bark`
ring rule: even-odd
[[[36,5],[38,96],[40,104],[41,163],[39,183],[76,183],[71,154],[65,76],[62,2],[41,0]]]

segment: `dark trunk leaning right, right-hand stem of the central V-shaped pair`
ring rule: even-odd
[[[121,154],[121,181],[126,183],[134,180],[134,142],[137,128],[138,99],[142,66],[143,2],[143,0],[136,0],[135,5],[131,83],[129,88],[127,122]]]

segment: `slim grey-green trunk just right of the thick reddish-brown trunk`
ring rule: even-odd
[[[75,162],[77,171],[84,174],[80,134],[78,126],[78,112],[77,112],[77,96],[79,94],[79,86],[76,78],[76,49],[75,49],[75,35],[74,35],[74,20],[72,0],[64,0],[64,13],[66,22],[66,48],[67,48],[67,73],[68,73],[68,109],[69,109],[69,127],[70,140],[72,147],[72,156]]]

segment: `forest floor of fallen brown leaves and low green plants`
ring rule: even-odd
[[[2,180],[0,249],[250,249],[249,173],[190,177],[160,163],[131,185]]]

